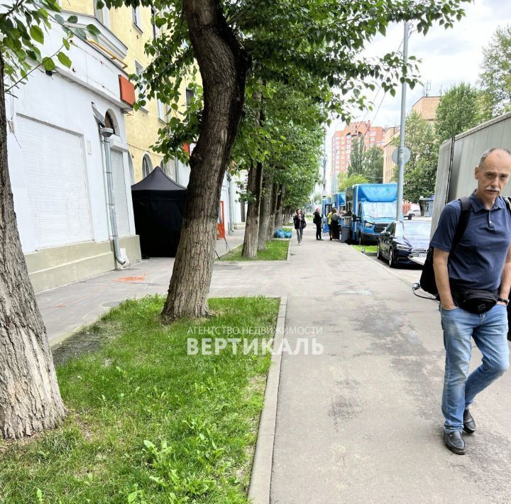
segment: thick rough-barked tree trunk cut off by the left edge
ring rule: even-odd
[[[0,53],[0,432],[19,439],[53,429],[65,407],[48,336],[28,278],[7,163],[4,60]]]

